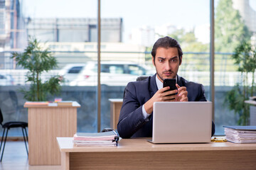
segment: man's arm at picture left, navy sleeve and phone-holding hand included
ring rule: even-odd
[[[142,126],[149,121],[149,118],[145,119],[142,113],[143,105],[146,113],[151,114],[155,101],[174,101],[174,99],[171,99],[174,97],[168,95],[176,94],[177,91],[166,91],[168,89],[169,86],[160,89],[150,98],[150,96],[146,96],[149,94],[144,94],[145,91],[137,91],[138,89],[136,89],[133,83],[127,84],[119,115],[119,123],[117,124],[119,135],[122,138],[132,137],[137,130],[142,128]]]

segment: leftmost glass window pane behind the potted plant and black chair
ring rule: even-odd
[[[30,85],[28,70],[16,66],[11,52],[23,52],[31,36],[40,41],[42,50],[48,47],[58,62],[58,67],[41,74],[42,81],[55,75],[64,79],[60,94],[49,95],[47,100],[78,101],[78,132],[96,132],[97,0],[14,2],[0,2],[0,108],[4,122],[28,121],[28,111],[23,108],[26,99],[19,91]],[[87,79],[90,84],[78,87]],[[21,135],[19,129],[9,132],[9,136]]]

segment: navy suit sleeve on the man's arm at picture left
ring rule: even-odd
[[[138,101],[136,92],[133,83],[127,84],[124,89],[124,100],[117,124],[117,131],[122,138],[132,137],[137,130],[148,122],[148,119],[144,119],[142,105]]]

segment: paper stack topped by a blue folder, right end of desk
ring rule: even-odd
[[[226,139],[234,143],[255,143],[256,126],[223,126]]]

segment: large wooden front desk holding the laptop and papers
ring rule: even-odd
[[[75,147],[57,137],[63,169],[255,169],[256,144],[154,145],[146,138],[122,139],[118,147]]]

